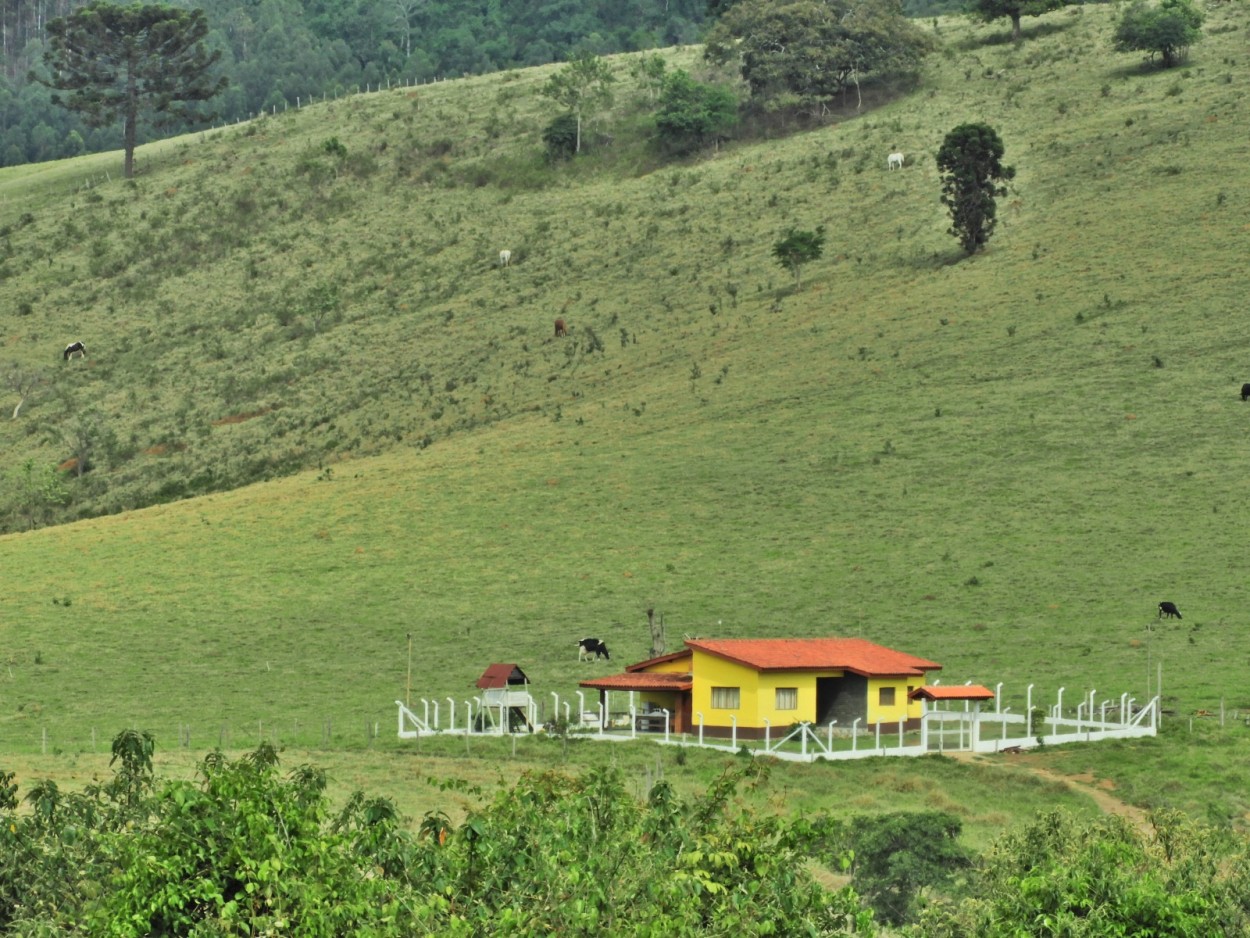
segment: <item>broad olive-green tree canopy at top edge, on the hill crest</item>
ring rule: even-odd
[[[740,63],[754,99],[820,113],[860,76],[915,71],[931,48],[892,0],[740,0],[709,31],[705,55]]]

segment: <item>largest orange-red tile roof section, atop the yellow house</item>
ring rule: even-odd
[[[849,670],[864,677],[914,677],[941,665],[862,638],[726,638],[686,642],[755,670]]]

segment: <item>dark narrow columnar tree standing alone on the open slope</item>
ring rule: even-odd
[[[950,209],[950,234],[964,250],[975,254],[994,234],[996,196],[1006,195],[1004,183],[1015,176],[1002,165],[1002,140],[989,124],[961,124],[942,140],[938,151],[941,203]]]

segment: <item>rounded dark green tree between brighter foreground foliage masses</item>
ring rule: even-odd
[[[859,818],[850,828],[855,889],[885,922],[912,920],[922,889],[971,865],[961,829],[959,818],[936,810]]]

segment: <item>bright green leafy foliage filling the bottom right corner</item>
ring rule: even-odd
[[[1146,834],[1119,817],[1064,813],[1010,833],[976,865],[969,895],[926,909],[924,938],[1245,934],[1244,840],[1152,817]]]

